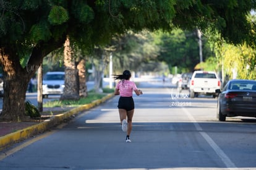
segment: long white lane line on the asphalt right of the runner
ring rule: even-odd
[[[186,108],[182,108],[182,110],[187,114],[187,117],[189,117],[190,121],[193,122],[195,125],[195,129],[198,131],[202,131],[202,127],[197,123],[195,118],[187,111]],[[220,147],[212,140],[212,138],[205,132],[200,132],[202,137],[207,141],[207,143],[213,148],[213,150],[216,152],[216,154],[221,158],[223,163],[226,165],[227,168],[237,168],[236,165],[231,161],[231,159],[228,158],[228,156],[221,150]]]

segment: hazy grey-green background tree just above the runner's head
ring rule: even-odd
[[[159,49],[152,41],[153,37],[147,31],[115,36],[111,41],[114,74],[120,74],[124,69],[141,71],[141,64],[155,60]]]

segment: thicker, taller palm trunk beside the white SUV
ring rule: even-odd
[[[69,37],[64,44],[65,87],[60,100],[79,100],[78,70],[75,67]]]

